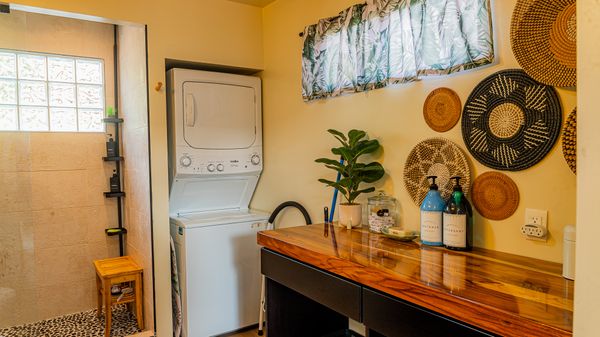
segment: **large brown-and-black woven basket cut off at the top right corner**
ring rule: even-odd
[[[577,84],[575,0],[518,0],[510,40],[523,69],[558,87]]]

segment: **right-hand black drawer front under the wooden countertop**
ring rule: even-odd
[[[388,337],[494,336],[406,301],[363,289],[363,323]]]

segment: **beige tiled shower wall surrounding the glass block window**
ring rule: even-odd
[[[12,11],[0,48],[98,57],[114,102],[113,26]],[[118,255],[103,133],[0,132],[0,328],[95,307],[92,260]]]

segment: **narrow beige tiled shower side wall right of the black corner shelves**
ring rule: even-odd
[[[120,117],[123,117],[123,179],[126,253],[144,268],[144,320],[154,329],[150,157],[143,28],[119,26]]]

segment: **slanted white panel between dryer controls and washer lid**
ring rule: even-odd
[[[169,214],[247,210],[258,175],[175,178],[169,193]]]

